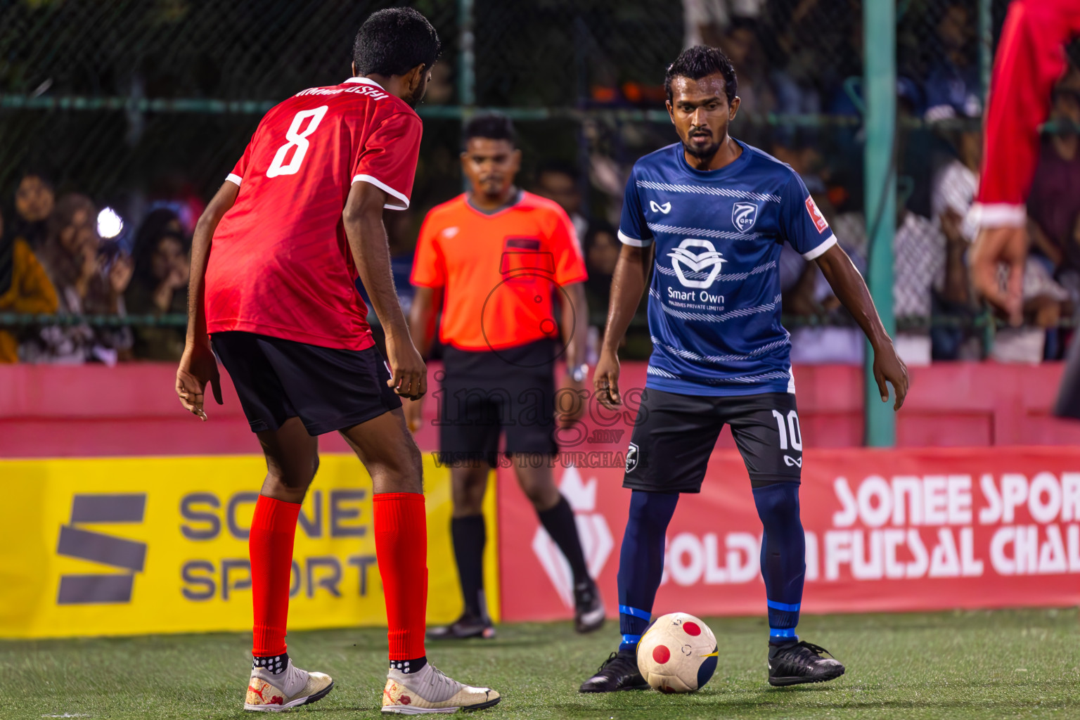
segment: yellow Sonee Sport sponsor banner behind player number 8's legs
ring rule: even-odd
[[[0,637],[249,630],[247,530],[261,457],[0,461]],[[424,457],[428,622],[462,610],[449,470]],[[495,474],[484,505],[489,609],[498,619]],[[300,511],[292,629],[384,625],[372,480],[324,454]],[[421,579],[417,579],[420,582]]]

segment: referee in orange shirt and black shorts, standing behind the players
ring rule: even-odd
[[[583,390],[589,370],[581,247],[563,208],[514,185],[522,153],[509,118],[473,118],[464,142],[461,168],[471,189],[428,213],[411,277],[409,328],[421,355],[443,310],[445,377],[433,394],[441,456],[450,465],[450,530],[465,606],[460,619],[428,637],[495,637],[484,601],[482,505],[503,432],[517,481],[573,572],[575,624],[588,633],[603,625],[604,604],[589,576],[573,511],[552,476],[558,452],[555,361],[562,355],[566,362],[566,389]],[[561,304],[562,338],[552,298]],[[420,400],[406,406],[406,417],[410,427],[419,426]]]

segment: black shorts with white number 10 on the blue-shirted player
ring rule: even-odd
[[[754,484],[800,481],[802,435],[794,393],[711,397],[646,388],[622,486],[701,492],[708,458],[725,423],[731,425]]]

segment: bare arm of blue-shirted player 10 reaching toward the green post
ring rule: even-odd
[[[851,258],[839,245],[833,245],[825,250],[816,262],[837,299],[852,314],[870,341],[870,347],[874,349],[874,379],[877,380],[878,390],[881,391],[881,402],[889,402],[889,388],[886,386],[888,381],[892,383],[896,393],[896,402],[892,407],[899,410],[907,395],[907,366],[900,359],[896,349],[892,347],[892,338],[881,325],[881,318],[877,314],[877,308],[874,307],[874,300],[863,276],[859,274]]]

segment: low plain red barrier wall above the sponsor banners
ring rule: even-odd
[[[429,379],[437,369],[432,364]],[[1049,417],[1061,373],[1059,363],[913,368],[912,393],[897,419],[897,445],[1080,446],[1080,423]],[[862,370],[809,366],[796,368],[795,378],[807,447],[860,446]],[[0,365],[0,457],[256,451],[232,384],[222,380],[225,406],[211,405],[210,422],[203,424],[180,409],[171,364]],[[644,363],[623,365],[624,389],[644,383]],[[426,413],[434,418],[433,400]],[[435,447],[430,424],[418,441],[424,449]],[[336,435],[321,443],[325,450],[348,451]],[[730,435],[721,436],[719,447],[733,447]]]

